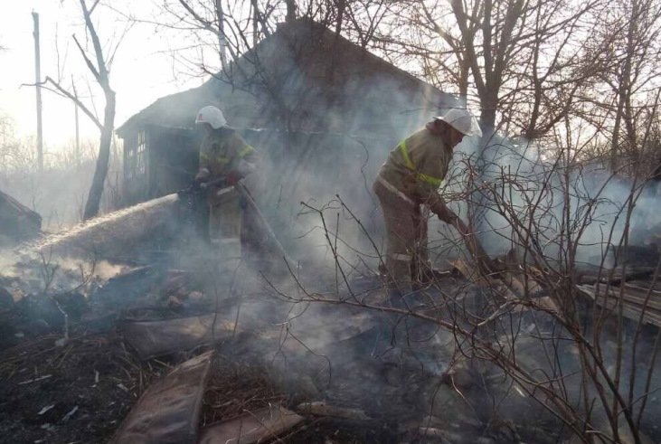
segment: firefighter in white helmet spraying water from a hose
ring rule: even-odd
[[[200,109],[195,124],[205,130],[195,181],[209,184],[210,240],[219,246],[226,262],[241,260],[243,210],[241,194],[234,185],[255,170],[256,152],[228,127],[221,109],[213,106]]]

